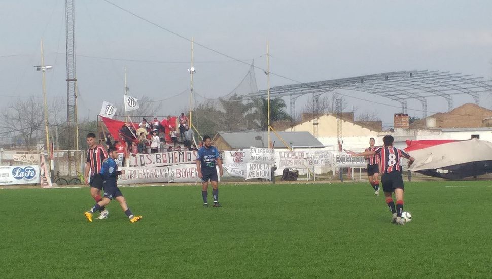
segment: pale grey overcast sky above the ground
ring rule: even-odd
[[[492,1],[111,1],[218,52],[248,63],[254,59],[258,67],[266,67],[268,41],[271,72],[301,82],[410,69],[492,75]],[[0,4],[0,97],[42,96],[41,75],[33,66],[40,63],[43,37],[45,64],[54,66],[48,95],[65,98],[65,2]],[[79,117],[90,113],[95,119],[103,100],[122,101],[124,66],[135,97],[165,99],[189,88],[189,41],[103,0],[76,1],[75,7]],[[231,92],[249,70],[197,45],[195,63],[195,90],[208,98]],[[265,75],[257,70],[256,77],[258,88],[266,89]],[[291,83],[271,77],[272,86]],[[396,106],[371,105],[383,123],[399,112],[398,102],[344,93]],[[367,108],[364,101],[344,100],[360,112]],[[186,93],[172,98],[159,114],[178,114],[188,101]],[[480,101],[487,108],[492,104],[488,94]],[[454,107],[466,102],[473,99],[454,97]],[[408,109],[421,116],[418,101],[410,100]],[[446,109],[443,98],[428,100],[428,115]]]

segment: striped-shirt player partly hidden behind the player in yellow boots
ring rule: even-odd
[[[101,190],[102,190],[102,175],[101,168],[104,160],[108,158],[108,152],[102,146],[97,145],[96,143],[96,135],[94,133],[87,134],[87,146],[89,150],[87,150],[87,162],[85,163],[85,184],[90,184],[90,192],[92,198],[96,202],[102,200]],[[90,183],[87,180],[90,172]],[[109,212],[106,208],[100,208],[101,214],[97,219],[107,218]]]

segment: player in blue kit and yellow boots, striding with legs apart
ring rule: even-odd
[[[128,216],[128,218],[130,219],[130,222],[135,223],[140,220],[142,216],[134,216],[131,213],[130,208],[128,208],[128,205],[126,204],[125,197],[123,197],[120,189],[116,186],[116,180],[118,179],[118,176],[125,174],[124,170],[118,171],[118,165],[115,162],[115,159],[118,158],[118,152],[116,151],[116,148],[110,147],[108,149],[108,155],[109,158],[104,161],[101,168],[104,197],[101,201],[92,206],[91,210],[85,212],[84,215],[87,220],[89,220],[89,222],[92,222],[92,214],[98,211],[99,208],[108,205],[112,199],[115,199],[120,203],[121,208],[125,212],[126,216]]]

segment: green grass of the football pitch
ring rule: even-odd
[[[142,221],[88,223],[87,188],[0,190],[0,278],[492,277],[489,181],[406,183],[403,227],[367,183],[222,185],[222,208],[121,189]]]

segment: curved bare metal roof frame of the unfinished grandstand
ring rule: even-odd
[[[492,93],[492,80],[483,77],[428,70],[386,72],[357,77],[289,84],[270,88],[270,97],[291,98],[291,114],[295,114],[295,102],[305,94],[321,95],[336,89],[345,89],[375,94],[400,102],[406,113],[407,100],[417,99],[422,103],[422,116],[427,117],[427,98],[442,97],[447,101],[448,110],[453,109],[452,97],[468,94],[475,104],[480,104],[480,93]],[[242,99],[264,97],[268,90],[243,95]]]

